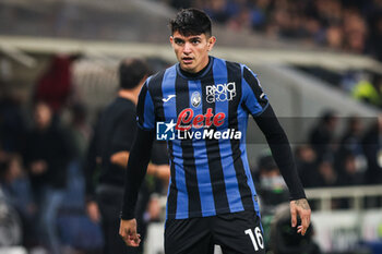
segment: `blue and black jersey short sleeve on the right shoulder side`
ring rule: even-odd
[[[268,106],[258,75],[246,65],[242,68],[242,102],[253,117],[260,116]]]

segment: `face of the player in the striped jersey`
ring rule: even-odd
[[[208,64],[208,51],[215,41],[214,36],[207,38],[205,34],[183,36],[174,32],[170,37],[180,68],[190,73],[196,73]]]

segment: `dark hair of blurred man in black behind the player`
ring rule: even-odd
[[[133,89],[145,75],[151,73],[146,61],[142,59],[124,59],[119,64],[119,86],[122,89]]]

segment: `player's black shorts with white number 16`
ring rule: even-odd
[[[168,219],[166,254],[264,254],[264,238],[255,211],[239,211],[204,218]]]

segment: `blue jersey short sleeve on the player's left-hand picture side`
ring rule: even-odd
[[[154,102],[148,92],[148,82],[150,78],[142,86],[136,106],[138,126],[146,131],[155,129]]]

